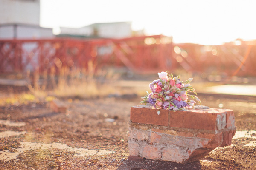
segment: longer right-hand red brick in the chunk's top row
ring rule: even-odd
[[[190,129],[216,130],[216,118],[217,115],[221,113],[223,113],[223,111],[170,111],[169,126]]]

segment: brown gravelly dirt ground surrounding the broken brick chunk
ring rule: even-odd
[[[1,95],[6,93],[1,90]],[[238,131],[256,130],[256,102],[199,96],[202,105],[233,109]],[[0,151],[15,153],[24,142],[61,143],[88,150],[111,150],[114,153],[76,156],[61,148],[32,148],[15,159],[0,160],[1,170],[256,170],[256,134],[232,140],[232,146],[219,147],[203,160],[177,164],[143,159],[129,161],[128,127],[130,108],[140,105],[140,96],[66,99],[66,113],[53,113],[49,103],[6,105],[0,119],[25,122],[24,126],[0,125],[0,133],[26,132],[0,138]],[[221,105],[220,105],[221,104]],[[43,145],[42,145],[43,146]],[[3,157],[4,153],[0,153]]]

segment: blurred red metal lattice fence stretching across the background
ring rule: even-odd
[[[174,44],[162,35],[125,39],[0,40],[0,72],[61,66],[126,67],[134,72],[186,71],[256,76],[256,42],[218,46]]]

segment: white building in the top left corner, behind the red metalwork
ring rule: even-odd
[[[42,28],[40,0],[0,0],[0,39],[52,38],[52,28]]]

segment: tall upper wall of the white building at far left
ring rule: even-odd
[[[0,24],[23,23],[39,26],[40,0],[0,0]]]

